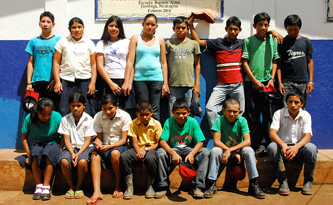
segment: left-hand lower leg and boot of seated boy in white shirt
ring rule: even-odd
[[[289,187],[287,182],[287,177],[285,174],[285,168],[283,163],[283,153],[282,148],[275,142],[272,142],[268,146],[268,155],[270,157],[270,161],[273,163],[274,171],[276,172],[278,181],[280,183],[279,186],[279,194],[282,196],[289,195]]]

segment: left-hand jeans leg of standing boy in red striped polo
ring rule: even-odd
[[[217,83],[208,100],[206,114],[210,128],[214,125],[216,118],[220,116],[219,113],[222,112],[222,105],[226,99],[226,92],[229,89],[228,87],[229,86],[226,84]]]

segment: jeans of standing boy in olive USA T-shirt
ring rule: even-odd
[[[189,107],[192,100],[192,92],[193,87],[169,87],[170,94],[169,94],[169,117],[172,117],[172,106],[174,105],[176,99],[184,98],[186,101],[188,101]]]

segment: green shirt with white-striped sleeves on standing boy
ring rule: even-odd
[[[278,41],[274,42],[272,36],[265,40],[259,40],[256,36],[250,36],[244,40],[242,58],[248,59],[248,66],[254,77],[260,82],[272,78],[272,60],[280,58],[278,53]],[[251,79],[245,75],[245,81]]]

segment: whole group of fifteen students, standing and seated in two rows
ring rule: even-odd
[[[42,98],[26,117],[22,129],[28,154],[26,163],[31,164],[36,180],[33,199],[50,199],[50,179],[58,163],[70,186],[65,197],[84,197],[82,181],[89,162],[94,194],[88,205],[102,200],[101,168],[111,166],[116,181],[113,197],[130,199],[132,167],[138,161],[143,161],[149,175],[146,198],[162,198],[170,193],[170,166],[181,161],[190,161],[197,169],[190,192],[193,197],[211,198],[216,193],[220,163],[232,158],[238,163],[245,160],[248,192],[264,198],[257,183],[255,156],[266,153],[277,171],[279,194],[289,194],[284,158],[305,161],[302,193],[313,193],[317,148],[309,143],[311,117],[300,108],[305,104],[306,94],[313,91],[311,54],[315,50],[309,39],[298,34],[300,18],[290,15],[285,19],[288,35],[282,38],[276,31],[268,31],[269,15],[259,13],[254,17],[256,34],[245,40],[237,38],[241,22],[235,16],[227,19],[227,37],[213,40],[201,40],[193,20],[194,16],[176,17],[173,22],[176,38],[164,43],[163,38],[154,35],[158,27],[154,14],[144,17],[142,33],[130,40],[124,36],[121,19],[111,16],[95,47],[84,37],[81,19],[72,18],[71,35],[59,39],[52,34],[53,15],[50,12],[40,15],[42,34],[30,40],[26,51],[30,53],[27,90],[38,91]],[[193,40],[186,36],[189,30]],[[189,116],[193,92],[200,96],[200,47],[216,54],[217,84],[206,105],[214,135],[212,151],[203,148],[205,137],[198,122]],[[100,100],[102,111],[97,114],[96,68],[105,81],[106,93]],[[285,96],[285,108],[272,118],[262,90],[274,85],[276,74],[279,90]],[[129,96],[133,96],[132,84],[138,103],[137,118],[133,121],[122,110]],[[59,103],[57,94],[60,94]],[[161,96],[169,96],[170,106],[170,118],[163,129],[159,122]],[[56,107],[60,114],[55,112]],[[29,133],[34,139],[32,147]],[[128,145],[128,137],[133,146]],[[269,144],[270,140],[273,142]],[[76,185],[73,170],[77,170]],[[124,193],[121,176],[126,182]]]

